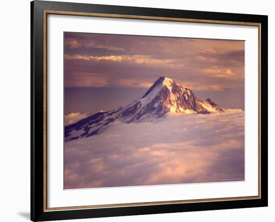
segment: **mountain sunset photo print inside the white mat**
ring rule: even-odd
[[[64,32],[64,189],[244,179],[244,41]]]

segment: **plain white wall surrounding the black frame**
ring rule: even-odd
[[[59,0],[66,1],[66,0]],[[69,1],[69,0],[67,0]],[[275,6],[270,0],[73,0],[74,2],[176,8],[268,15],[269,206],[262,208],[166,213],[75,221],[274,221]],[[29,220],[30,30],[29,0],[1,2],[0,13],[0,220]],[[256,99],[256,98],[255,98]]]

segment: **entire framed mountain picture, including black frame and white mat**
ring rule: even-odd
[[[34,0],[31,220],[267,206],[267,16]]]

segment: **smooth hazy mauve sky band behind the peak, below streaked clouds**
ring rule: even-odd
[[[66,87],[65,115],[72,112],[94,113],[97,111],[109,111],[131,103],[139,99],[148,88],[111,88],[111,87]],[[192,90],[192,89],[191,89]],[[239,108],[244,110],[244,102],[241,100],[226,100],[230,94],[232,97],[240,96],[244,101],[244,89],[231,90],[224,88],[223,91],[192,90],[201,100],[211,98],[216,104],[223,108]],[[119,97],[119,100],[114,100]],[[104,102],[98,102],[102,101]],[[69,101],[68,101],[69,100]],[[96,106],[94,105],[96,104]]]

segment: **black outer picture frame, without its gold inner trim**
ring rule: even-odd
[[[260,198],[159,205],[118,206],[85,209],[47,210],[45,208],[44,169],[44,10],[92,12],[104,14],[153,16],[166,18],[256,22],[260,24]],[[54,1],[30,2],[31,51],[31,156],[30,156],[30,219],[32,221],[78,219],[122,215],[185,212],[267,206],[267,15],[145,8]]]

